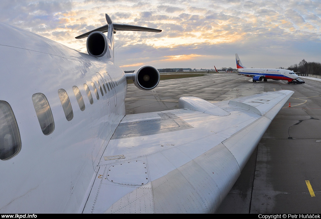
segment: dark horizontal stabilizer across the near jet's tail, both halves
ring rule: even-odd
[[[135,26],[135,25],[128,25],[128,24],[113,24],[114,25],[114,32],[116,30],[131,30],[131,31],[146,31],[146,32],[156,32],[159,33],[161,32],[160,29],[154,29],[154,28],[147,28],[147,27],[141,27],[141,26]],[[100,32],[108,32],[108,24],[101,26],[99,28],[93,29],[87,33],[84,33],[82,35],[79,35],[78,37],[75,37],[76,39],[81,39],[84,37],[88,37],[89,34],[95,31],[100,31]]]

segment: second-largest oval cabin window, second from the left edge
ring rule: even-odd
[[[35,93],[32,95],[32,102],[42,133],[44,135],[51,134],[55,129],[55,122],[47,97],[43,93]]]

